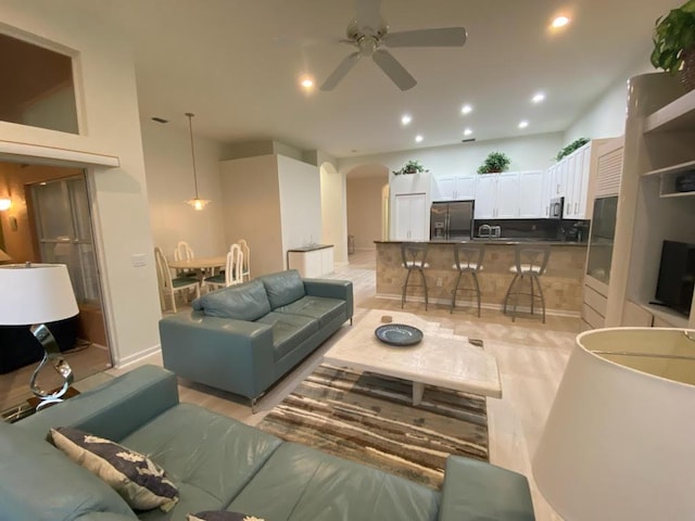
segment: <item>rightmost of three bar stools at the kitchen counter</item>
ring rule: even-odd
[[[545,323],[545,298],[543,297],[543,289],[541,288],[540,277],[545,274],[545,267],[551,256],[551,246],[547,245],[525,245],[517,244],[514,249],[514,266],[509,268],[509,271],[514,274],[514,279],[509,284],[507,294],[504,297],[504,314],[507,314],[507,304],[509,297],[514,296],[514,308],[511,309],[511,321],[514,322],[517,317],[517,304],[519,302],[519,295],[528,295],[531,297],[531,315],[533,315],[535,300],[541,301],[541,307],[543,309],[543,323]],[[523,293],[522,288],[516,289],[515,285],[522,287],[523,279],[527,278],[531,282],[531,292]],[[538,294],[535,289],[538,288]]]

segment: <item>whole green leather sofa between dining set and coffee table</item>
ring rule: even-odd
[[[160,321],[164,367],[252,401],[353,316],[352,282],[290,269],[197,298]]]

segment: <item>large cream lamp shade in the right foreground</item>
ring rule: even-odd
[[[695,519],[690,357],[695,341],[681,329],[577,338],[532,462],[539,488],[564,519]]]

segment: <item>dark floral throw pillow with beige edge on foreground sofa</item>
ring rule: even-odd
[[[109,483],[136,510],[160,507],[169,511],[178,501],[176,485],[148,457],[78,429],[51,429],[58,448]]]

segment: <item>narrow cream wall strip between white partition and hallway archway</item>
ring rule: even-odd
[[[321,240],[333,245],[336,264],[348,263],[348,234],[345,233],[346,198],[345,176],[338,174],[330,163],[320,166]]]

